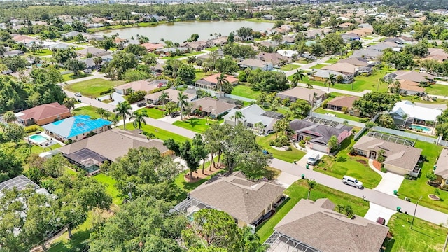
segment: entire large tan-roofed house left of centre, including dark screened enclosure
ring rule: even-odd
[[[160,139],[148,139],[141,130],[108,130],[101,134],[67,144],[57,150],[71,163],[88,171],[96,171],[106,160],[115,162],[127,155],[130,148],[157,148],[162,156],[172,155]]]

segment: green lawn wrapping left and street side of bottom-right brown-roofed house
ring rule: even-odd
[[[257,234],[260,235],[261,242],[264,242],[270,235],[272,235],[275,225],[277,225],[277,223],[279,223],[279,221],[286,216],[286,214],[288,214],[290,209],[292,209],[297,202],[301,199],[307,198],[307,182],[302,179],[295,181],[295,183],[285,190],[284,194],[289,196],[288,200],[281,204],[281,207],[277,209],[272,218],[269,218],[268,221],[257,227]],[[367,201],[323,185],[318,185],[316,188],[311,190],[309,198],[310,200],[328,198],[335,204],[342,204],[344,206],[350,205],[353,212],[358,216],[365,216],[365,213],[367,213],[367,210],[369,209],[369,203]]]

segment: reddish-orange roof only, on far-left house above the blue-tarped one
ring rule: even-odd
[[[67,109],[65,105],[53,102],[50,104],[42,104],[39,106],[35,106],[34,108],[21,111],[18,113],[18,115],[20,115],[18,117],[22,118],[23,120],[28,120],[31,118],[33,118],[34,120],[42,120],[69,112],[69,109]]]

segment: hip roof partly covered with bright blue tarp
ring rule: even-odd
[[[72,116],[64,120],[58,120],[55,123],[44,125],[43,128],[61,137],[69,139],[79,134],[88,133],[104,125],[111,125],[112,122],[102,118],[92,120],[90,116]]]

